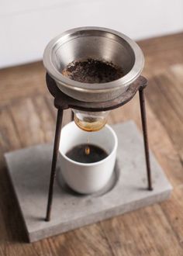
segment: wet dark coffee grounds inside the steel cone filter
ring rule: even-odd
[[[89,84],[107,83],[123,77],[123,70],[111,62],[88,59],[73,61],[67,65],[62,74],[74,81]]]

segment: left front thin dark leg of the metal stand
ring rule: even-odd
[[[54,180],[56,176],[57,154],[58,154],[58,148],[60,143],[62,118],[63,118],[63,109],[58,109],[57,124],[56,124],[55,137],[54,137],[54,152],[52,157],[51,173],[50,173],[50,187],[49,187],[49,193],[48,193],[48,199],[47,199],[47,216],[45,219],[46,221],[50,221],[50,214],[51,214],[51,208],[52,208],[52,202],[53,202]]]

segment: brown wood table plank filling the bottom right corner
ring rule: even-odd
[[[103,221],[101,225],[116,255],[182,255],[181,245],[158,205]]]

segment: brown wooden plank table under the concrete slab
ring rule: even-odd
[[[4,152],[54,140],[56,109],[41,62],[0,71],[0,255],[183,255],[183,33],[139,42],[149,79],[150,148],[174,186],[171,199],[94,225],[25,243]],[[64,123],[70,119],[64,114]],[[111,112],[109,123],[133,119],[138,95]]]

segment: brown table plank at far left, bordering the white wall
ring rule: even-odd
[[[0,106],[19,98],[47,93],[42,62],[0,70]]]

